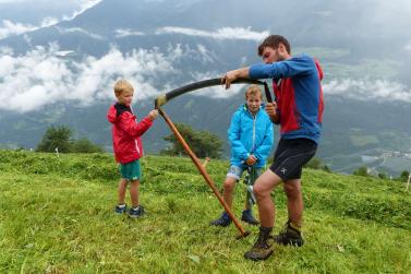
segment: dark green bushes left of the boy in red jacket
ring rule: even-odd
[[[73,131],[65,126],[50,126],[41,141],[38,143],[37,152],[56,152],[60,153],[95,153],[104,152],[104,150],[92,143],[88,139],[73,139]]]

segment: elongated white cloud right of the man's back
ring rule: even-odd
[[[335,80],[323,85],[324,94],[356,100],[411,103],[411,90],[387,80]]]

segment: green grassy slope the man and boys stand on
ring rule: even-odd
[[[221,207],[189,158],[142,160],[141,219],[113,214],[111,155],[0,151],[0,273],[407,273],[411,193],[399,182],[306,169],[300,249],[276,246],[265,262],[243,259],[257,227],[209,227]],[[228,163],[211,160],[216,182]],[[245,190],[237,188],[240,215]],[[287,218],[275,191],[278,233]]]

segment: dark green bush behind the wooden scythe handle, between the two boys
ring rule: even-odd
[[[208,131],[195,131],[189,124],[176,123],[185,142],[190,145],[191,150],[197,157],[220,158],[222,153],[222,141],[218,135]],[[162,150],[161,154],[165,155],[186,155],[183,146],[177,140],[174,134],[164,138],[164,140],[171,143],[171,146]]]

